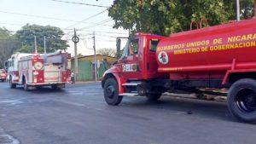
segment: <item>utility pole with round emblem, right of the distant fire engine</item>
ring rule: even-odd
[[[76,29],[73,29],[74,35],[72,37],[73,43],[74,43],[74,52],[75,52],[75,59],[74,59],[74,64],[75,64],[75,72],[74,72],[74,79],[75,82],[78,80],[78,74],[79,74],[79,60],[78,60],[78,46],[77,43],[79,43],[79,37],[77,36]]]

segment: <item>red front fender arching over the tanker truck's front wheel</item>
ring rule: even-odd
[[[104,88],[105,81],[108,78],[115,78],[116,82],[119,85],[119,94],[122,94],[125,92],[125,88],[122,86],[126,82],[126,79],[122,77],[120,74],[120,69],[118,66],[113,66],[110,69],[108,69],[106,72],[103,74],[102,78],[102,88]]]

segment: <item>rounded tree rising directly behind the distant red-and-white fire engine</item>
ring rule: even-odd
[[[32,53],[34,52],[34,36],[37,37],[38,52],[44,53],[44,36],[46,37],[46,51],[54,52],[55,50],[67,49],[67,41],[61,40],[64,32],[55,26],[38,26],[29,25],[23,26],[22,29],[16,32],[16,37],[23,43],[20,52]]]

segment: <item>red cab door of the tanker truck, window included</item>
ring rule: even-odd
[[[142,72],[140,69],[141,59],[141,50],[139,47],[140,39],[132,39],[126,44],[127,55],[122,58],[122,75],[127,79],[141,79]],[[125,49],[124,49],[125,50]]]

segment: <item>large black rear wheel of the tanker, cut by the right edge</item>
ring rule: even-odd
[[[256,80],[244,78],[232,84],[228,93],[228,107],[239,121],[256,123]]]

